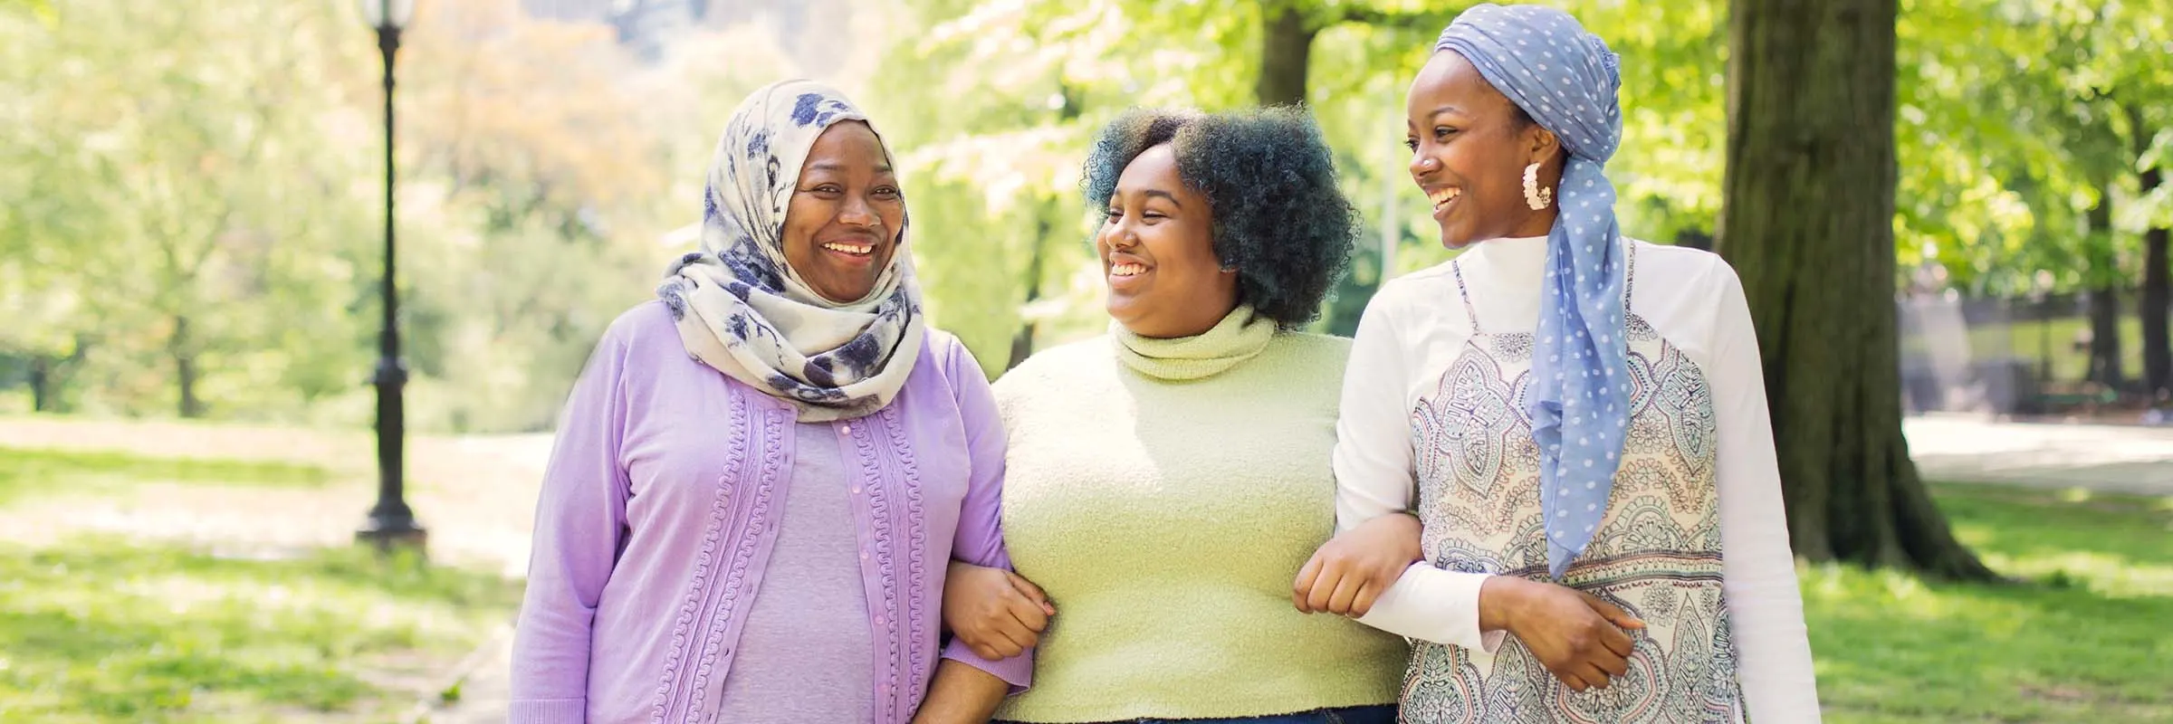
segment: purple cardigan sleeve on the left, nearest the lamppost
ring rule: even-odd
[[[513,724],[582,724],[595,602],[626,530],[626,344],[606,335],[574,385],[537,500],[513,637]]]

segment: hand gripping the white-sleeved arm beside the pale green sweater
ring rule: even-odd
[[[1291,585],[1291,604],[1304,613],[1365,615],[1419,557],[1417,517],[1389,513],[1367,520],[1312,552]]]

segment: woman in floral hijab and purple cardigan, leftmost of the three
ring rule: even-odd
[[[513,722],[982,722],[1028,683],[1026,654],[941,646],[947,561],[1008,567],[1004,430],[926,326],[904,230],[841,93],[784,80],[732,113],[702,252],[567,402]]]

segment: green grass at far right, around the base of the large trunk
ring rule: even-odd
[[[1938,485],[2008,585],[1821,565],[1827,722],[2173,722],[2173,498]]]

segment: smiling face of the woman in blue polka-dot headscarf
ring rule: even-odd
[[[1434,204],[1441,244],[1460,248],[1502,237],[1543,237],[1554,204],[1525,204],[1523,170],[1538,163],[1538,185],[1562,178],[1560,143],[1462,54],[1434,52],[1406,102],[1410,178]]]

